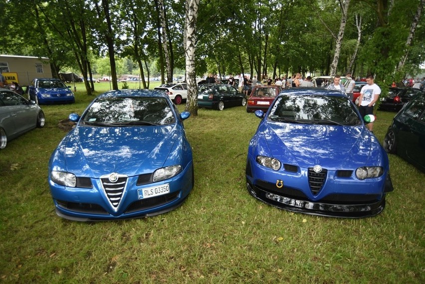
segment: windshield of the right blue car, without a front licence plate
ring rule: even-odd
[[[272,121],[308,124],[361,124],[349,99],[326,95],[280,96],[271,106],[268,118]]]

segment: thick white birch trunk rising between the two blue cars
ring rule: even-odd
[[[195,50],[196,50],[196,22],[198,18],[200,0],[186,0],[186,82],[188,85],[188,101],[186,111],[193,116],[198,115],[198,85],[196,83]]]

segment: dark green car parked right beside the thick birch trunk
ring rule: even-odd
[[[225,107],[244,106],[244,94],[230,85],[206,84],[198,87],[198,106],[223,110]]]

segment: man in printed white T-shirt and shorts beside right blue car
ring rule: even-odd
[[[373,75],[366,77],[366,83],[360,90],[359,97],[359,112],[362,118],[368,114],[373,115],[373,107],[381,94],[381,88],[374,83]],[[373,131],[373,122],[368,123],[366,126],[370,131]]]

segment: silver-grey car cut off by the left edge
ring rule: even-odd
[[[6,147],[7,140],[43,127],[44,122],[44,112],[34,101],[0,88],[0,149]]]

